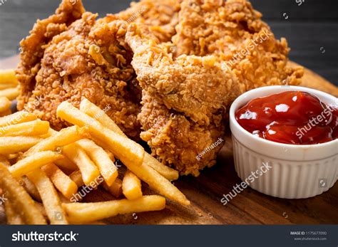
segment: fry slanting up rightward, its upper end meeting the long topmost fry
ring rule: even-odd
[[[77,126],[68,127],[36,144],[34,147],[24,153],[24,157],[36,152],[47,150],[56,150],[56,152],[62,152],[63,146],[81,140],[84,137],[88,137],[86,134],[86,128],[79,128]]]

